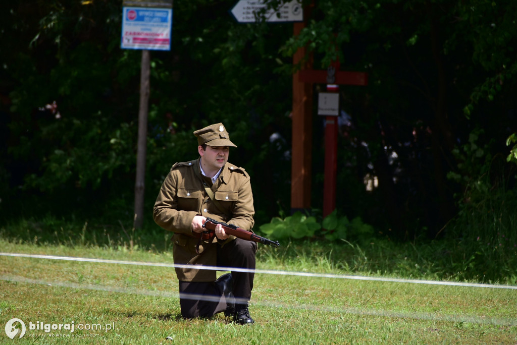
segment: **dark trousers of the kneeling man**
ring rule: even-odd
[[[217,265],[255,269],[257,243],[235,239],[217,249]],[[232,271],[233,294],[237,304],[251,299],[254,273]],[[223,292],[214,281],[179,281],[179,305],[184,318],[211,317],[226,309]]]

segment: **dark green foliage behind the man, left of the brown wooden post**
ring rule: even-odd
[[[2,148],[4,140],[8,145],[0,194],[5,199],[16,198],[12,191],[19,189],[45,195],[95,191],[100,200],[118,198],[115,184],[131,192],[141,53],[118,48],[121,3],[22,3],[6,4],[12,10],[0,13],[0,27],[9,40],[0,47],[6,80],[0,91],[11,101],[9,130],[0,142]],[[290,80],[279,79],[273,70],[277,47],[288,30],[284,25],[255,29],[237,24],[227,13],[230,1],[174,5],[179,17],[172,50],[151,52],[147,197],[156,197],[172,164],[196,158],[192,132],[222,121],[239,143],[230,161],[247,169],[257,190],[268,192],[257,193],[255,202],[269,205],[275,200],[285,207],[286,172],[269,181],[255,177],[270,170],[267,160],[287,150],[289,132],[282,122],[290,121],[290,99],[278,89],[288,87]],[[13,29],[17,35],[7,34]],[[282,147],[269,143],[272,132],[281,134]],[[257,146],[269,154],[255,155]],[[265,189],[271,182],[278,187]],[[131,205],[132,198],[128,201]],[[257,213],[262,217],[261,210]]]

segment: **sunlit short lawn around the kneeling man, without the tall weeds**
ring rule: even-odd
[[[12,318],[26,325],[23,338],[11,340],[2,332],[0,343],[517,343],[516,289],[379,281],[377,277],[397,277],[398,271],[361,271],[365,265],[358,264],[357,252],[347,259],[346,253],[332,254],[337,248],[323,249],[326,255],[318,248],[318,255],[295,245],[262,246],[258,270],[316,274],[257,273],[252,326],[236,325],[222,315],[179,318],[177,280],[170,267],[0,256],[0,325]],[[169,249],[129,245],[39,245],[0,239],[0,252],[173,263]],[[413,265],[393,262],[399,268],[404,264]],[[412,279],[439,276],[429,270],[420,275],[404,272]],[[318,274],[356,274],[372,280]],[[73,333],[43,328],[72,321]],[[33,330],[31,323],[43,329]],[[79,330],[80,325],[91,329]],[[96,325],[102,329],[94,329]]]

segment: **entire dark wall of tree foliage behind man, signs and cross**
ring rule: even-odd
[[[339,56],[342,69],[369,73],[367,87],[340,87],[350,116],[339,137],[341,214],[411,239],[463,236],[468,226],[452,226],[472,222],[462,214],[488,212],[474,200],[500,198],[512,213],[515,165],[506,163],[505,140],[517,131],[515,2],[314,1],[296,38],[291,23],[236,23],[234,3],[174,2],[172,49],[151,52],[148,225],[170,166],[196,158],[193,130],[219,121],[239,146],[230,161],[251,175],[257,224],[289,213],[299,46],[310,48],[314,68]],[[140,51],[119,48],[121,2],[0,6],[2,218],[131,223]],[[323,126],[314,116],[316,216]],[[367,180],[378,184],[367,191]]]

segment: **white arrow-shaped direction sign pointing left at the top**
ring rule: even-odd
[[[239,0],[232,8],[231,13],[239,23],[255,23],[260,20],[264,12],[266,22],[286,23],[302,22],[303,8],[301,0],[294,0],[283,4],[279,9],[266,10],[267,0]]]

